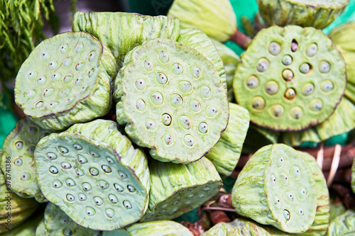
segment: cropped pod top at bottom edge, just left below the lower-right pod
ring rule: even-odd
[[[204,232],[201,236],[244,236],[244,235],[258,235],[271,236],[266,230],[257,223],[243,218],[237,218],[231,223],[218,223]]]

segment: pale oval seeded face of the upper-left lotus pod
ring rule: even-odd
[[[99,83],[102,44],[88,33],[62,33],[44,40],[16,77],[16,103],[41,118],[70,111]]]

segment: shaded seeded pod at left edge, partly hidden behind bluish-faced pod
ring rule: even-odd
[[[6,164],[11,160],[10,189],[23,198],[33,198],[38,202],[46,201],[37,181],[35,180],[35,160],[33,152],[38,141],[53,130],[45,130],[28,118],[18,121],[16,127],[4,140],[4,154],[1,159],[1,169],[6,170]]]

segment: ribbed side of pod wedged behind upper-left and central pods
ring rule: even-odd
[[[180,26],[177,18],[166,16],[77,11],[72,22],[72,30],[85,31],[98,38],[111,50],[120,68],[125,55],[146,40],[154,38],[178,40]]]

